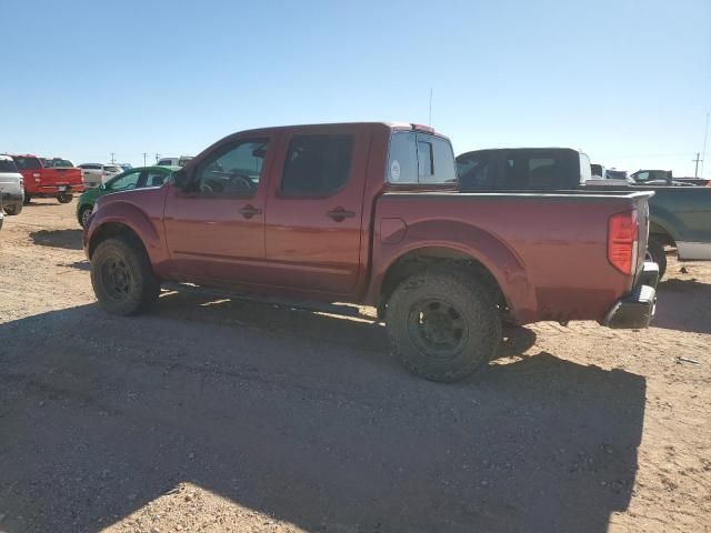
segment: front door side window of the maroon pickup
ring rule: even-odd
[[[253,197],[259,187],[268,143],[267,139],[242,140],[218,149],[196,169],[188,192]]]

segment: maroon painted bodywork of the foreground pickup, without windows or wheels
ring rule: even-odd
[[[227,143],[268,138],[259,188],[249,198],[199,198],[173,184],[109,194],[90,219],[84,248],[90,255],[98,230],[123,223],[144,242],[163,280],[367,304],[379,303],[388,269],[403,254],[444,248],[491,272],[518,323],[602,320],[629,293],[634,276],[608,261],[608,220],[647,202],[643,194],[462,194],[402,185],[389,191],[390,135],[400,129],[411,127],[318,124],[236,133],[184,172],[190,177]],[[328,198],[281,193],[289,141],[301,133],[353,135],[349,180]],[[246,207],[257,214],[242,217]],[[352,215],[338,220],[329,215],[334,210]]]

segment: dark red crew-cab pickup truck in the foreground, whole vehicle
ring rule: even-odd
[[[483,366],[502,322],[645,328],[649,192],[457,193],[449,140],[414,124],[267,128],[160,188],[101,198],[83,235],[100,304],[146,310],[163,281],[373,305],[415,374]]]

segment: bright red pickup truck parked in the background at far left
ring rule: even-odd
[[[59,203],[69,203],[74,192],[83,192],[81,169],[44,167],[36,155],[11,155],[24,178],[24,203],[32,197],[56,198]]]

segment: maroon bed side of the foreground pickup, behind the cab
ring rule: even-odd
[[[400,235],[379,232],[373,264],[393,253],[422,245],[443,245],[442,234],[471,253],[509,288],[507,299],[518,323],[540,320],[603,320],[610,302],[628,293],[634,278],[608,261],[608,221],[637,209],[648,223],[647,199],[653,192],[567,191],[400,193],[378,202],[378,218],[401,220]],[[640,231],[642,238],[647,232]],[[639,248],[645,249],[645,242]],[[643,262],[638,257],[638,274]]]

